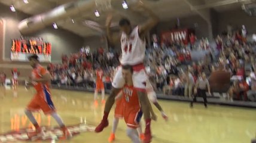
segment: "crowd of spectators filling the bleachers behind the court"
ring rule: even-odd
[[[173,42],[154,43],[151,48],[147,47],[145,70],[156,91],[191,98],[194,85],[202,74],[209,77],[221,64],[231,77],[227,100],[256,101],[256,45],[247,41],[243,28],[218,35],[215,46],[210,46],[207,38],[197,39],[190,35],[191,43],[188,45]],[[190,52],[194,49],[209,52],[199,61],[192,61]],[[118,57],[118,52],[104,51],[103,48],[93,53],[80,51],[69,57],[63,55],[62,64],[50,64],[49,69],[53,83],[93,88],[95,69],[102,67],[105,82],[109,83],[107,88],[111,88],[111,77],[119,64]]]

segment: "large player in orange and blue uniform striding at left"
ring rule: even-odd
[[[25,114],[28,116],[28,119],[32,122],[33,126],[35,126],[35,133],[42,136],[45,135],[44,130],[39,127],[35,117],[32,114],[33,111],[42,110],[44,114],[50,114],[56,120],[60,128],[63,130],[63,138],[71,138],[71,133],[64,125],[59,114],[56,113],[53,101],[51,100],[51,93],[49,90],[49,85],[51,82],[50,73],[39,64],[37,55],[31,55],[31,57],[29,57],[29,63],[33,68],[30,84],[32,84],[36,89],[36,94],[28,104]]]

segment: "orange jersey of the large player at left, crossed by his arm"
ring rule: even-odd
[[[40,79],[46,73],[48,73],[48,71],[38,64],[35,69],[32,70],[32,78]],[[49,83],[33,82],[33,87],[36,89],[37,92],[45,90],[49,91]]]

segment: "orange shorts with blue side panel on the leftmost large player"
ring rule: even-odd
[[[44,114],[51,114],[56,111],[53,101],[51,100],[51,94],[48,91],[37,92],[31,102],[27,106],[29,111],[40,111]]]

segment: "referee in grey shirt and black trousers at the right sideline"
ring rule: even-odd
[[[196,82],[196,86],[194,88],[194,91],[195,91],[194,94],[198,95],[199,97],[203,97],[205,108],[207,108],[206,89],[208,89],[208,92],[211,95],[209,81],[206,78],[205,73],[202,73],[202,77],[199,77],[199,79]],[[194,96],[193,100],[190,102],[190,107],[193,107],[193,102],[196,102],[196,96]]]

